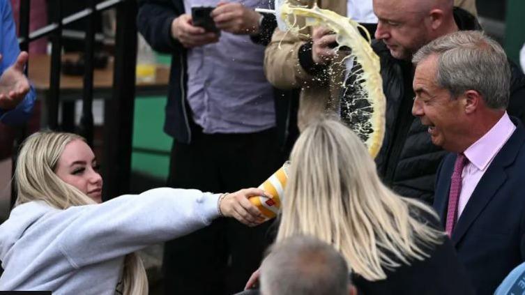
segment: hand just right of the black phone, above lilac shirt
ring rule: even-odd
[[[215,26],[222,31],[238,35],[253,34],[259,31],[261,15],[241,3],[219,2],[211,12]]]

